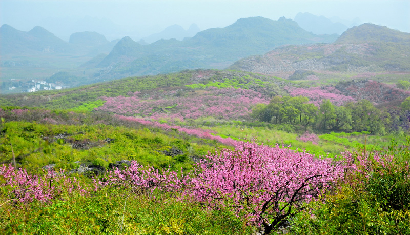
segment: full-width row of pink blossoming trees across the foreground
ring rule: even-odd
[[[408,158],[408,151],[406,156]],[[4,203],[24,207],[33,202],[50,204],[75,193],[93,197],[107,187],[128,189],[134,195],[148,197],[162,192],[211,210],[229,210],[249,225],[262,226],[266,233],[270,233],[309,207],[309,202],[325,200],[326,195],[338,190],[338,185],[346,179],[354,178],[348,185],[356,188],[367,185],[374,175],[383,177],[384,174],[404,172],[400,187],[398,183],[387,182],[393,184],[388,192],[377,189],[374,193],[382,193],[378,194],[378,200],[386,200],[385,205],[393,205],[395,210],[408,209],[408,165],[403,162],[402,165],[407,167],[398,168],[400,161],[394,154],[365,150],[342,153],[339,160],[317,158],[305,151],[295,152],[277,145],[237,141],[233,150],[208,153],[189,173],[144,167],[134,161],[128,168],[114,168],[107,171],[104,178],[85,183],[64,172],[34,175],[24,169],[15,169],[11,164],[3,165],[0,167],[1,186],[6,191],[0,195],[5,199]],[[396,189],[404,194],[391,195]]]

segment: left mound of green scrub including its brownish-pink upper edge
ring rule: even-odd
[[[57,113],[24,109],[6,111],[3,119],[8,122],[0,126],[0,161],[11,162],[14,156],[17,166],[29,171],[38,171],[49,164],[70,170],[78,167],[77,161],[107,168],[120,160],[138,160],[156,168],[172,165],[173,169],[189,169],[191,158],[214,149],[218,144],[213,140],[222,139],[202,129],[175,131],[97,113]],[[35,118],[38,123],[31,122]],[[10,121],[13,119],[30,122]],[[199,135],[194,135],[195,132]],[[209,136],[211,140],[197,136]],[[162,153],[172,147],[181,150],[182,155],[173,158]]]

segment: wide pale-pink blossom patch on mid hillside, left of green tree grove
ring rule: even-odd
[[[208,88],[209,93],[198,97],[172,97],[171,99],[142,100],[131,97],[101,97],[107,101],[96,110],[113,112],[122,115],[141,115],[155,118],[170,118],[179,115],[178,119],[197,119],[213,116],[220,119],[247,118],[253,105],[268,104],[259,92],[245,89]]]

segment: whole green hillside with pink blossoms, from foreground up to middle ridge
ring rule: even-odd
[[[0,231],[406,234],[408,95],[202,69],[2,95]]]

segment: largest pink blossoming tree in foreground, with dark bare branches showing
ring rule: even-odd
[[[344,167],[332,159],[252,142],[237,142],[235,150],[224,149],[206,159],[191,180],[191,197],[211,208],[245,213],[256,224],[267,225],[271,219],[278,223],[344,175]]]

